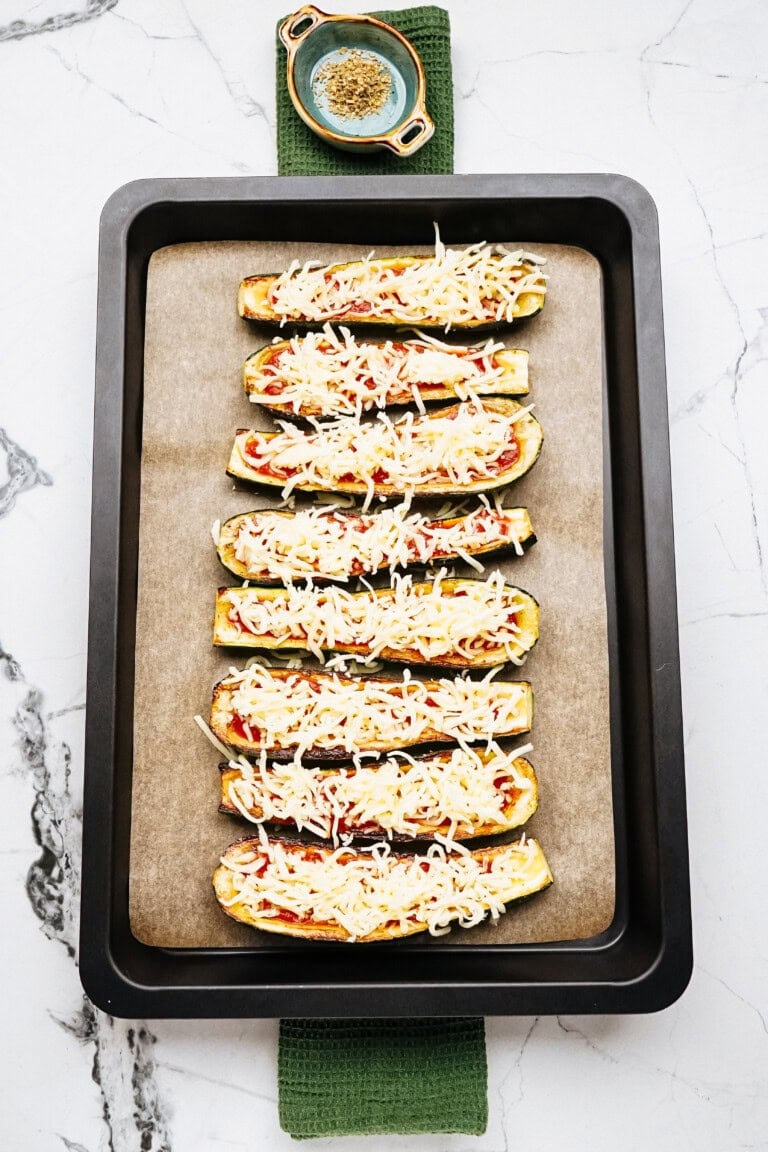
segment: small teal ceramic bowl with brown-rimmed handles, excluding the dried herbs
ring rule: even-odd
[[[374,16],[330,16],[304,5],[280,25],[288,50],[288,91],[294,107],[321,139],[347,152],[389,149],[412,156],[434,132],[424,104],[424,67],[413,46]],[[375,59],[389,75],[383,107],[364,116],[332,112],[318,74],[341,65],[350,51]]]

